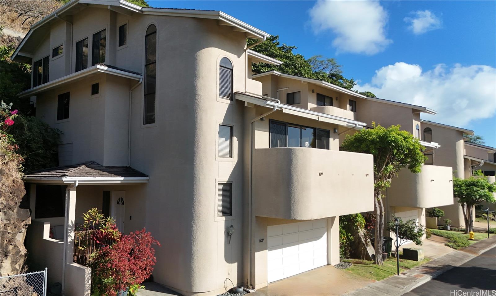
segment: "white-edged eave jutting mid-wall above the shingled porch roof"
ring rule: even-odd
[[[35,93],[38,93],[38,92],[41,92],[44,90],[48,90],[50,88],[59,86],[61,84],[65,84],[65,83],[71,82],[73,80],[80,79],[80,78],[83,78],[85,76],[88,76],[88,75],[91,75],[94,73],[98,73],[98,72],[112,74],[112,75],[121,76],[121,77],[134,79],[134,80],[139,80],[143,77],[142,75],[129,73],[129,72],[118,70],[118,69],[113,69],[113,68],[109,68],[109,67],[102,66],[102,65],[94,65],[94,66],[89,67],[87,69],[72,73],[70,75],[61,77],[59,79],[55,79],[53,81],[44,83],[42,85],[38,85],[36,87],[22,91],[18,94],[18,96],[21,98],[22,97],[29,97]]]

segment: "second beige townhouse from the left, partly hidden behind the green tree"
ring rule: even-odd
[[[426,224],[426,208],[453,203],[452,169],[450,165],[434,165],[434,151],[440,147],[429,131],[422,129],[420,114],[436,114],[435,111],[411,104],[371,98],[316,79],[269,71],[252,75],[262,83],[262,93],[278,98],[282,103],[297,108],[310,109],[333,116],[340,116],[382,126],[400,124],[417,137],[426,147],[428,157],[419,174],[407,169],[399,172],[390,188],[385,190],[384,207],[386,220],[393,216],[403,220],[413,219]],[[340,126],[333,131],[342,141],[346,134],[356,132],[355,128]]]

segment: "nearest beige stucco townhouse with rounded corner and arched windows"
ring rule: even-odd
[[[154,281],[184,295],[338,263],[338,216],[373,209],[372,155],[339,151],[338,130],[366,124],[265,93],[251,63],[281,62],[247,38],[268,36],[221,11],[123,0],[70,1],[34,24],[12,56],[34,69],[20,96],[63,134],[60,166],[25,178],[31,266],[89,295],[74,229],[93,207],[150,231]]]

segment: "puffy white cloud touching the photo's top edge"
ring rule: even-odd
[[[377,1],[318,1],[310,9],[315,33],[332,31],[332,45],[337,53],[373,55],[382,52],[392,41],[384,27],[387,12]]]

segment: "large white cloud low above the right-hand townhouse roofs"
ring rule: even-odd
[[[371,83],[356,89],[434,109],[437,115],[422,114],[422,118],[463,127],[471,120],[494,116],[495,81],[496,69],[487,65],[438,64],[423,71],[419,65],[396,62],[375,71]]]

